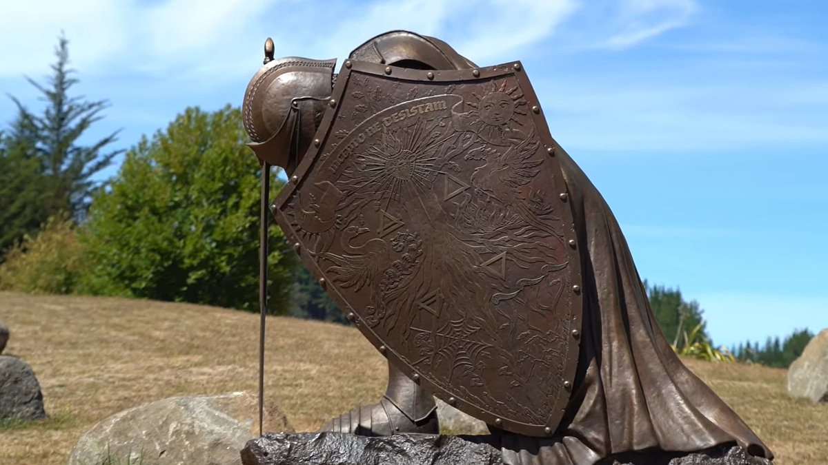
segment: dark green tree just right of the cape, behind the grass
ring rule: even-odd
[[[688,302],[682,298],[681,290],[667,288],[664,285],[648,285],[647,281],[644,281],[644,286],[647,288],[652,314],[668,342],[681,347],[685,343],[681,340],[684,333],[691,333],[698,326],[700,328],[696,338],[710,342],[705,329],[705,319],[701,316],[703,311],[696,300]]]

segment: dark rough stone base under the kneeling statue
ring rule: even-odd
[[[242,449],[243,465],[293,465],[298,463],[397,463],[455,465],[503,463],[496,436],[443,436],[395,434],[370,438],[340,433],[268,433],[252,439]],[[534,461],[537,463],[537,460]],[[770,465],[744,448],[727,445],[697,453],[662,451],[623,454],[606,458],[600,465]]]

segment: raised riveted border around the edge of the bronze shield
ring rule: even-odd
[[[291,178],[288,180],[286,185],[282,187],[282,191],[277,195],[277,198],[270,204],[271,213],[276,217],[277,223],[279,224],[279,227],[282,228],[282,233],[286,237],[286,240],[295,244],[295,248],[297,249],[297,253],[300,256],[302,263],[320,283],[325,283],[328,280],[325,277],[325,274],[320,270],[320,267],[317,266],[316,262],[311,260],[306,254],[301,253],[301,242],[298,241],[296,232],[293,228],[291,228],[285,214],[282,213],[282,207],[286,204],[288,199],[291,198],[294,191],[301,186],[308,170],[310,170],[310,167],[322,155],[323,149],[327,146],[328,139],[331,136],[330,127],[333,125],[335,117],[339,113],[338,98],[344,95],[344,90],[349,83],[352,71],[360,71],[380,77],[390,76],[395,79],[426,81],[431,83],[457,81],[471,82],[513,74],[526,98],[527,107],[532,108],[529,114],[532,117],[532,122],[538,129],[538,137],[541,139],[543,145],[546,147],[547,151],[550,151],[552,156],[561,152],[566,154],[566,151],[551,136],[546,118],[543,116],[543,107],[538,100],[537,94],[532,88],[532,84],[530,83],[520,61],[510,61],[501,65],[467,70],[414,70],[410,68],[379,65],[359,60],[345,60],[339,70],[335,87],[331,93],[329,108],[325,111],[320,127],[315,133],[315,141],[319,141],[319,143],[313,143],[310,145],[305,156],[302,158],[300,165],[297,166],[294,175],[291,175]],[[568,156],[568,154],[566,154],[566,156]],[[560,161],[556,161],[556,163],[558,163],[560,170]],[[574,205],[571,201],[568,183],[566,176],[563,175],[563,171],[560,170],[560,172],[563,185],[566,186],[566,192],[562,192],[561,194],[567,194],[570,200],[567,201],[564,196],[562,196],[562,199],[564,199],[566,204],[569,204],[570,215],[574,221],[575,215],[572,211],[574,209]],[[570,247],[570,250],[568,251],[570,255],[570,264],[577,266],[577,270],[573,274],[573,276],[576,276],[574,281],[580,281],[582,284],[583,270],[581,261],[583,258],[580,253],[580,244],[583,242],[580,241],[580,237],[578,237],[575,233],[574,224],[570,225],[570,231],[567,232],[570,233],[568,236],[574,237],[576,241],[575,247]],[[296,247],[296,245],[299,247]],[[325,291],[328,292],[328,294],[335,300],[335,303],[339,305],[339,309],[349,315],[349,319],[354,322],[354,326],[359,329],[359,332],[362,333],[370,343],[373,344],[374,348],[377,348],[378,352],[386,357],[389,362],[395,363],[397,368],[404,372],[406,376],[415,379],[415,381],[421,385],[426,385],[426,388],[429,389],[436,397],[444,400],[449,405],[474,416],[477,419],[483,420],[489,425],[495,426],[498,429],[505,429],[513,433],[526,434],[535,437],[549,437],[556,434],[558,431],[561,425],[561,419],[563,419],[566,412],[566,405],[568,405],[572,392],[574,391],[575,372],[580,358],[580,332],[582,328],[583,307],[585,304],[585,294],[580,291],[580,289],[575,290],[575,294],[580,295],[580,299],[575,298],[570,307],[570,328],[572,328],[572,330],[567,338],[564,377],[560,380],[561,388],[564,389],[568,395],[558,396],[556,405],[554,405],[551,409],[551,414],[547,419],[547,424],[527,424],[514,419],[503,418],[502,416],[495,415],[489,410],[484,410],[468,400],[461,398],[459,395],[446,391],[442,387],[437,386],[435,383],[429,381],[426,376],[421,376],[414,369],[412,369],[412,367],[409,367],[406,362],[403,362],[401,357],[399,357],[396,352],[390,348],[386,348],[380,338],[378,338],[377,334],[373,333],[373,330],[369,328],[368,325],[360,323],[359,316],[357,316],[356,312],[354,312],[354,308],[343,299],[338,290],[332,286],[324,287]],[[558,415],[556,415],[556,413],[558,413]],[[550,421],[550,419],[553,419],[554,421]]]

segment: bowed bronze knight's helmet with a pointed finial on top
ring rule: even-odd
[[[250,79],[242,114],[248,144],[258,159],[296,169],[325,113],[336,79],[336,60],[290,56],[273,59],[273,41],[265,42],[264,66]]]

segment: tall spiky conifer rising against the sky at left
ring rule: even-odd
[[[65,36],[60,36],[55,56],[57,60],[51,65],[52,74],[46,84],[26,78],[41,93],[45,108],[42,113],[32,113],[12,97],[17,117],[12,123],[12,137],[7,140],[15,150],[24,152],[23,158],[38,161],[37,170],[44,178],[37,184],[41,189],[39,218],[33,223],[38,226],[64,211],[83,217],[96,187],[93,176],[123,152],[107,151],[117,140],[118,132],[89,145],[81,143],[81,137],[103,117],[101,112],[108,103],[71,94],[79,81],[74,77],[76,71],[69,67],[69,41]]]

